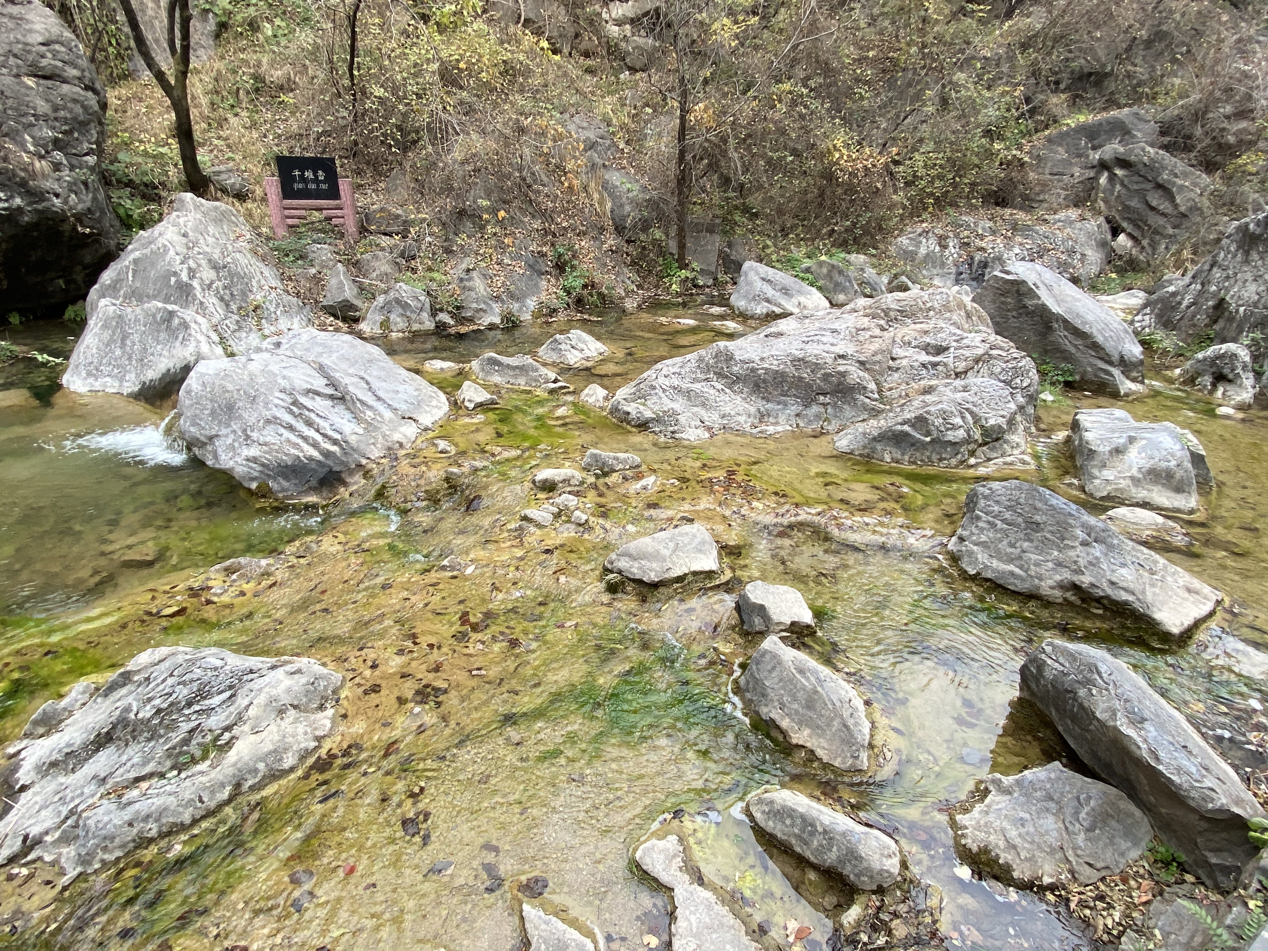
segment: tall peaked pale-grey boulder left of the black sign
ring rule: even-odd
[[[171,213],[132,238],[89,292],[89,325],[104,301],[126,307],[155,301],[197,313],[231,354],[311,326],[308,308],[256,254],[252,233],[227,204],[176,195]]]

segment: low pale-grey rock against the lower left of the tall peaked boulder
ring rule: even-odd
[[[99,301],[62,385],[77,393],[122,393],[133,399],[172,396],[199,360],[224,356],[216,328],[191,311],[151,301],[129,307]]]

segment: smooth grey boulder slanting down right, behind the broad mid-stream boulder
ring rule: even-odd
[[[1044,265],[995,271],[973,302],[999,336],[1040,361],[1073,368],[1075,385],[1117,397],[1144,392],[1145,354],[1127,325]]]

